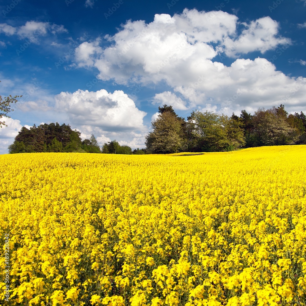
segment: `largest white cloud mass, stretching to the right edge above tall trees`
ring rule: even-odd
[[[239,34],[238,18],[222,11],[156,14],[150,24],[127,21],[114,36],[106,35],[108,47],[101,48],[98,40],[82,43],[76,62],[96,67],[100,79],[118,84],[166,84],[171,91],[157,93],[152,102],[181,110],[231,114],[280,103],[290,111],[305,107],[306,87],[296,91],[304,79],[286,76],[267,59],[239,58],[230,66],[218,62],[222,52],[236,57],[291,43],[278,35],[279,25],[270,17],[240,25],[244,29]]]

